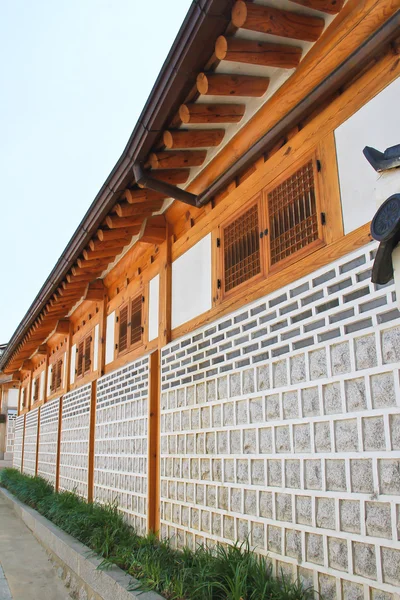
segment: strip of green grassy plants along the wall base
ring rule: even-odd
[[[0,473],[0,485],[61,529],[138,580],[138,590],[154,590],[168,600],[312,600],[315,592],[299,581],[273,577],[265,557],[249,544],[175,550],[156,535],[139,536],[116,505],[85,502],[71,492],[56,493],[40,477],[15,469]]]

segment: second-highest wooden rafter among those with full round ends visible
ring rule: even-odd
[[[297,67],[302,55],[302,48],[287,44],[270,44],[257,40],[227,38],[220,35],[215,42],[215,55],[218,60],[228,62],[261,65],[293,69]]]

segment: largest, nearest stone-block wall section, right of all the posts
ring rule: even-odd
[[[167,346],[162,534],[245,540],[328,599],[400,586],[400,313],[370,244]]]

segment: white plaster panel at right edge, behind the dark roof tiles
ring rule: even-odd
[[[364,225],[376,212],[377,174],[362,151],[381,152],[399,143],[400,79],[365,104],[335,131],[345,233]]]

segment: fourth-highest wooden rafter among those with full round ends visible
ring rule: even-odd
[[[239,123],[245,110],[245,104],[182,104],[179,118],[182,123]],[[150,164],[151,156],[153,155],[150,155]],[[152,164],[151,166],[153,167]]]

